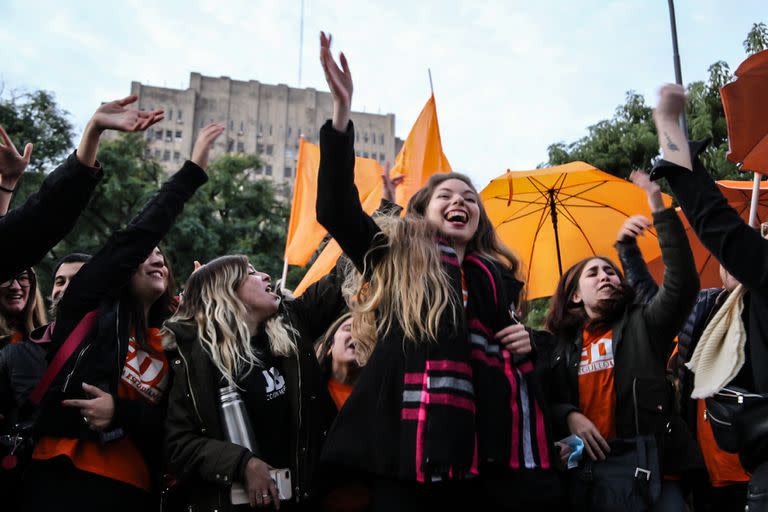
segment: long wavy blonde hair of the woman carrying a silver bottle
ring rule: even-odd
[[[262,364],[251,344],[254,333],[246,325],[245,305],[237,296],[237,289],[247,278],[246,256],[214,259],[189,277],[181,304],[169,320],[196,327],[198,341],[230,386],[237,386],[238,377]],[[279,316],[267,320],[264,328],[273,355],[297,353],[289,328]],[[173,334],[168,329],[165,333]]]

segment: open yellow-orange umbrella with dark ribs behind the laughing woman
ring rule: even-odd
[[[552,295],[563,271],[583,258],[615,257],[624,221],[650,216],[640,187],[584,162],[507,171],[480,197],[499,237],[522,260],[528,299]],[[655,231],[638,243],[646,261],[660,254]]]

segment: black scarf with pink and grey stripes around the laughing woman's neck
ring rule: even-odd
[[[411,458],[419,482],[478,475],[486,464],[549,468],[544,414],[531,392],[533,363],[494,337],[510,324],[512,304],[500,269],[477,254],[459,265],[453,248],[438,243],[457,297],[462,277],[466,282],[466,323],[446,326],[438,343],[406,353],[401,421],[414,443],[402,443],[401,455]]]

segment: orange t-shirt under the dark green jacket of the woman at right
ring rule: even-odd
[[[579,407],[606,440],[616,437],[616,390],[613,387],[613,333],[589,332],[579,364]]]

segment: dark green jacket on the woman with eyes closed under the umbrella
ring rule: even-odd
[[[640,434],[657,435],[665,452],[664,471],[670,474],[690,464],[699,465],[695,442],[674,409],[672,389],[665,375],[674,337],[696,300],[699,278],[685,229],[675,210],[654,213],[653,221],[666,268],[664,282],[650,303],[629,306],[611,326],[615,422],[618,437],[633,437],[638,430]],[[563,436],[570,433],[568,414],[579,411],[581,349],[579,332],[575,338],[560,339],[552,354],[550,404],[555,428]]]

